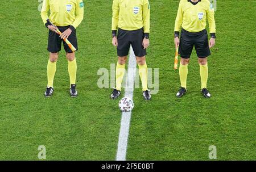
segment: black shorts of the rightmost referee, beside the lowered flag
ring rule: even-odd
[[[207,30],[192,33],[182,29],[179,46],[180,57],[190,58],[194,45],[197,57],[205,58],[210,56]]]

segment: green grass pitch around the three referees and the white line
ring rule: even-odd
[[[38,1],[1,3],[0,160],[114,160],[121,112],[110,89],[99,89],[97,71],[117,62],[111,44],[112,1],[88,0],[79,28],[78,98],[69,98],[67,60],[62,48],[55,94],[47,85],[47,36]],[[253,0],[217,1],[216,46],[209,57],[208,89],[200,93],[195,51],[188,93],[175,97],[173,30],[179,1],[151,2],[151,45],[147,65],[159,68],[159,93],[145,102],[134,90],[127,160],[256,160],[255,6]]]

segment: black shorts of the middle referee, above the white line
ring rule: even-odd
[[[144,31],[143,28],[135,31],[125,31],[121,28],[118,28],[117,33],[117,55],[127,56],[129,53],[130,45],[133,47],[133,51],[135,56],[143,57],[146,56],[146,49],[143,49],[142,41],[144,39]]]

